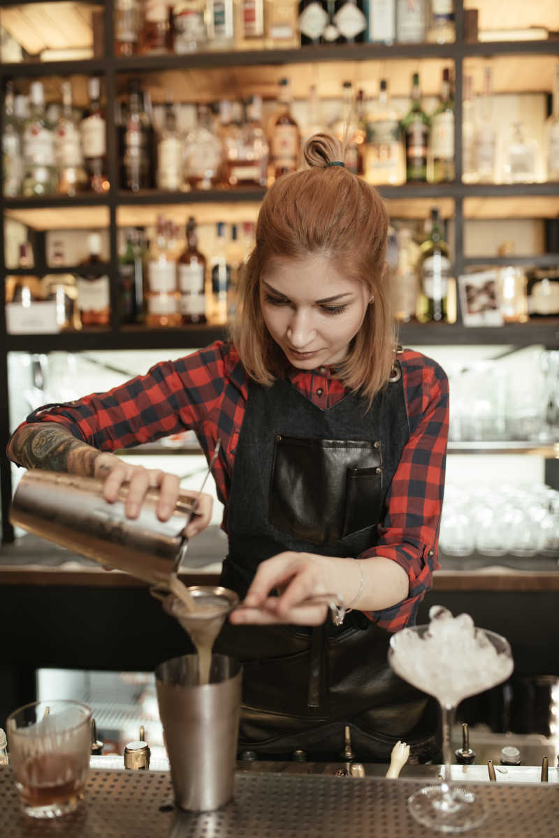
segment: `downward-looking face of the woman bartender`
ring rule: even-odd
[[[301,370],[344,360],[369,301],[365,283],[344,277],[325,256],[277,259],[260,279],[267,329]]]

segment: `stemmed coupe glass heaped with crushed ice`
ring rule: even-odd
[[[451,782],[451,731],[458,703],[510,677],[510,645],[499,634],[477,629],[468,614],[433,606],[428,625],[391,637],[388,660],[418,690],[434,696],[443,711],[443,782],[411,794],[408,807],[419,823],[439,832],[473,830],[483,823],[484,804],[473,791]]]

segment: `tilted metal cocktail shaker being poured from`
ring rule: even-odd
[[[179,497],[173,515],[160,521],[155,511],[158,489],[148,489],[140,515],[132,519],[124,511],[127,485],[113,504],[103,498],[102,488],[103,481],[96,478],[30,469],[13,495],[10,520],[101,565],[151,585],[167,585],[184,546],[192,499]]]

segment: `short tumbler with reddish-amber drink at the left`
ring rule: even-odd
[[[90,708],[80,701],[34,701],[8,716],[6,731],[23,812],[32,818],[73,812],[90,765]]]

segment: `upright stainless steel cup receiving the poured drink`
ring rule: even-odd
[[[194,812],[218,809],[233,796],[241,716],[241,664],[214,654],[210,683],[200,686],[195,654],[155,670],[159,716],[175,803]]]

